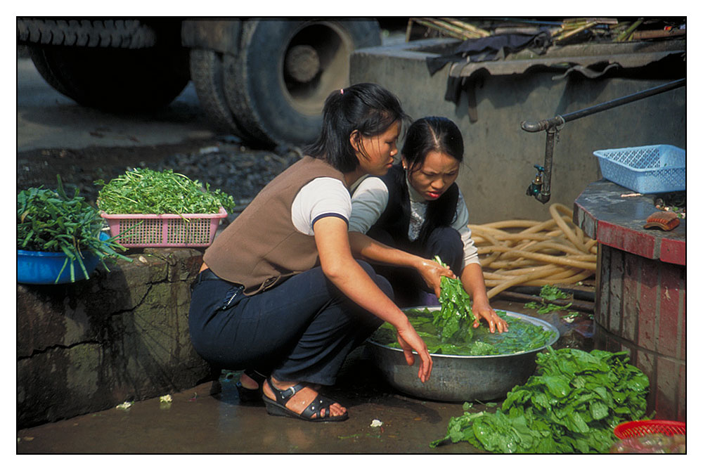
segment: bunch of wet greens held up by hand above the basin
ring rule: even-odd
[[[439,256],[434,257],[434,260],[446,268]],[[471,297],[458,278],[442,276],[439,283],[441,310],[434,312],[432,325],[437,329],[441,342],[465,344],[472,339],[472,324],[477,320],[471,310]]]

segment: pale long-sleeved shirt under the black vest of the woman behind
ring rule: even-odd
[[[406,181],[407,183],[407,181]],[[427,212],[427,200],[408,183],[408,194],[410,196],[410,225],[408,226],[408,239],[415,241],[420,235],[420,228],[425,223]],[[352,196],[352,216],[349,217],[349,231],[366,233],[371,226],[378,221],[381,214],[388,205],[388,188],[385,183],[375,176],[364,179],[354,190]],[[464,243],[463,268],[469,264],[481,264],[478,250],[471,238],[469,224],[469,211],[464,202],[464,196],[459,190],[459,198],[456,202],[456,212],[451,223],[452,228],[456,228]]]

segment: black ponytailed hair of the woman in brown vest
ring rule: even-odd
[[[304,151],[326,160],[335,169],[351,172],[359,167],[349,142],[352,132],[358,131],[356,144],[363,153],[362,136],[378,136],[398,121],[409,121],[409,117],[398,98],[378,84],[354,84],[335,90],[325,100],[320,135]]]

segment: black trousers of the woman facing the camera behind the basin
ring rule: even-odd
[[[439,256],[457,277],[461,276],[464,245],[461,241],[461,235],[455,228],[448,226],[435,228],[424,245],[420,245],[419,242],[412,242],[410,245],[407,242],[400,242],[380,228],[372,227],[366,234],[384,245],[399,248],[419,257],[434,259],[435,256]],[[413,307],[437,304],[434,292],[414,269],[383,265],[374,265],[373,268],[391,283],[398,306]]]

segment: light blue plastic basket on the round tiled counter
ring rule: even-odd
[[[686,190],[686,152],[672,145],[593,151],[608,181],[641,194]]]

